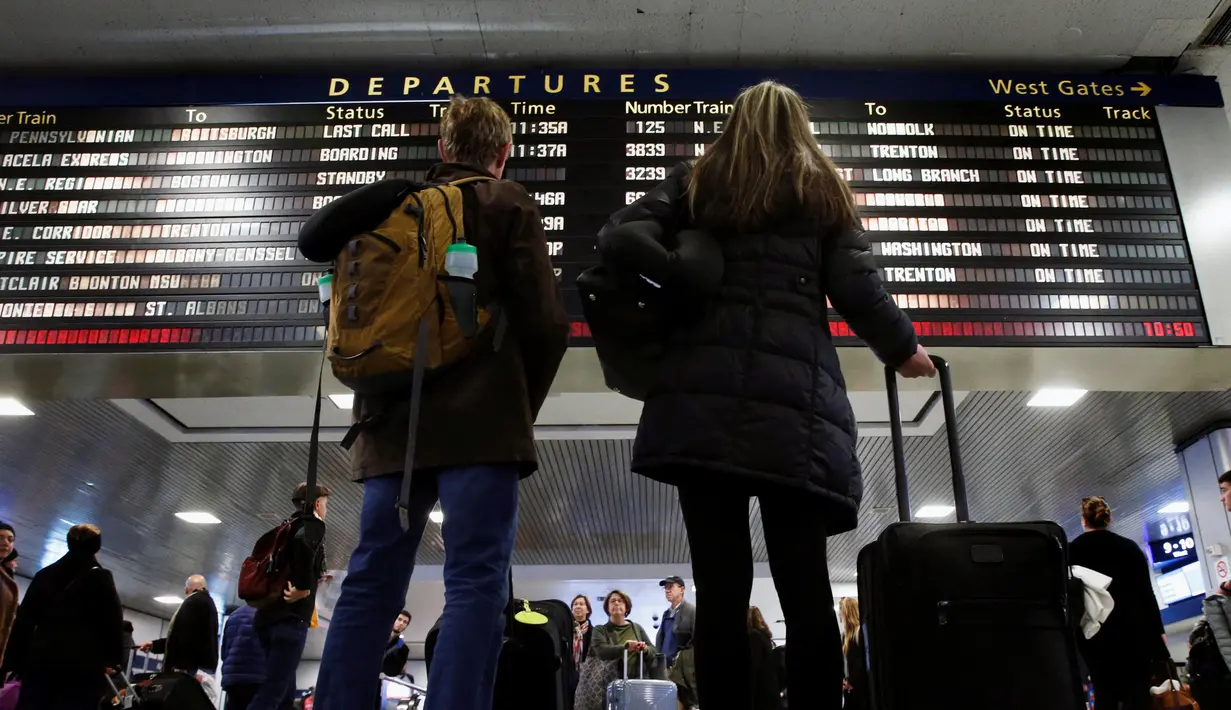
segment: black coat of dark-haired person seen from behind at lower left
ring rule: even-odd
[[[111,572],[69,552],[42,568],[17,608],[5,667],[18,674],[94,678],[124,663],[124,616]],[[74,678],[79,680],[74,680]]]

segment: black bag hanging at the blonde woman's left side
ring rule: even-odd
[[[704,314],[723,279],[723,250],[709,235],[665,235],[630,221],[598,239],[599,266],[577,277],[581,308],[609,389],[644,401],[672,330]]]

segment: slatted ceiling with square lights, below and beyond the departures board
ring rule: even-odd
[[[981,521],[1055,519],[1076,533],[1077,501],[1098,493],[1115,507],[1121,532],[1137,536],[1146,517],[1184,495],[1172,452],[1177,437],[1231,418],[1229,391],[1091,393],[1066,410],[1028,409],[1027,397],[971,393],[959,407],[970,503]],[[153,598],[174,593],[190,573],[206,573],[212,588],[233,594],[252,541],[291,512],[289,491],[303,479],[304,443],[172,443],[107,401],[30,406],[37,416],[0,420],[0,519],[17,528],[21,571],[31,575],[63,554],[70,524],[94,522],[103,530],[103,564],[139,610],[166,614]],[[949,500],[943,431],[906,444],[913,505]],[[675,490],[629,473],[630,441],[551,439],[538,448],[542,469],[522,487],[517,565],[550,577],[551,568],[574,566],[688,562]],[[860,528],[832,540],[835,582],[853,581],[858,549],[896,509],[889,441],[860,438],[859,459],[867,497]],[[348,481],[337,444],[324,445],[321,465],[335,491],[329,564],[345,568],[361,489]],[[201,509],[223,523],[198,527],[174,517]],[[755,505],[750,523],[756,559],[764,562]],[[435,525],[419,562],[442,562]]]

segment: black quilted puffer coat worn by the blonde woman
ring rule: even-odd
[[[673,485],[812,493],[830,534],[851,530],[863,481],[825,299],[894,367],[915,353],[915,329],[885,293],[860,231],[826,231],[810,215],[761,235],[692,225],[688,170],[676,167],[604,228],[639,220],[665,231],[700,226],[725,258],[705,316],[672,336],[641,412],[633,470]],[[719,476],[697,480],[707,471]]]

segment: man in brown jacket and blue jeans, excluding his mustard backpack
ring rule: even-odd
[[[538,207],[524,187],[499,180],[511,146],[508,116],[487,98],[454,98],[441,121],[444,162],[427,180],[486,178],[460,186],[463,223],[479,252],[479,303],[500,304],[507,331],[499,348],[492,333],[480,333],[471,354],[423,386],[409,532],[396,508],[406,468],[406,397],[356,396],[355,418],[364,423],[351,448],[352,471],[364,489],[359,543],[330,620],[316,710],[375,704],[368,693],[377,692],[372,678],[380,671],[389,618],[405,603],[415,551],[437,501],[447,521],[447,602],[427,706],[491,706],[519,479],[538,468],[534,418],[569,337]],[[384,181],[335,201],[299,233],[299,250],[313,261],[331,261],[352,236],[399,209],[410,189],[404,181]]]

